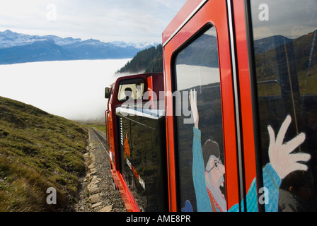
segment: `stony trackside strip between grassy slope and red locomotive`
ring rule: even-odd
[[[105,133],[98,131],[103,136]],[[100,139],[88,129],[87,153],[84,154],[86,174],[81,177],[76,212],[126,212],[120,191],[113,187],[110,160]]]

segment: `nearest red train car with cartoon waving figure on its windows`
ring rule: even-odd
[[[163,31],[165,157],[154,187],[166,187],[147,206],[317,210],[316,15],[312,0],[185,3]]]

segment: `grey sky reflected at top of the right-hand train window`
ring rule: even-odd
[[[316,0],[252,0],[253,37],[297,38],[316,30]]]

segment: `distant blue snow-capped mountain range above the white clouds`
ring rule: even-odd
[[[0,64],[30,61],[74,59],[132,58],[137,52],[157,43],[100,42],[54,35],[25,35],[5,30],[0,32]]]

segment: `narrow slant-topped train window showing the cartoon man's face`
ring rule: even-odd
[[[206,29],[174,58],[182,211],[226,211],[217,35]]]

